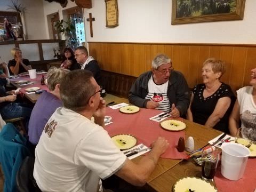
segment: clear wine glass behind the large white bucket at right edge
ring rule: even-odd
[[[256,130],[252,128],[241,127],[238,129],[235,142],[249,148],[256,142]]]

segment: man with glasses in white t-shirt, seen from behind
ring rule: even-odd
[[[101,191],[100,178],[113,174],[143,186],[167,149],[169,143],[159,137],[138,164],[130,161],[104,129],[100,91],[88,70],[70,71],[62,79],[63,107],[45,125],[35,150],[34,178],[42,191]]]

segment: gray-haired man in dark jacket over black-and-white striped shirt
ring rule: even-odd
[[[171,59],[159,54],[152,61],[151,71],[134,82],[128,99],[135,106],[171,111],[172,117],[178,118],[186,115],[189,88],[184,76],[173,69]]]

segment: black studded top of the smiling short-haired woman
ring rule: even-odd
[[[235,98],[229,85],[222,83],[217,91],[207,98],[203,97],[203,92],[205,89],[204,84],[195,85],[193,88],[194,100],[191,103],[191,112],[193,114],[193,121],[204,125],[213,113],[215,106],[220,98],[229,97],[231,99],[231,104],[226,114],[220,119],[220,121],[213,127],[222,132],[228,133],[228,118],[230,112],[233,108],[233,100]]]

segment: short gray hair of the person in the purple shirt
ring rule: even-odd
[[[55,89],[57,84],[60,84],[61,79],[65,77],[65,75],[69,73],[68,69],[51,67],[47,72],[47,86],[50,91]]]

